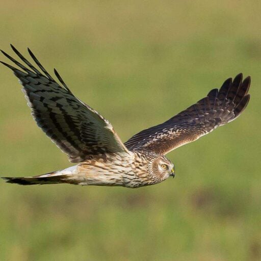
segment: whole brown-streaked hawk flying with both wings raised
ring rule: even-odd
[[[68,155],[70,162],[77,164],[38,176],[3,177],[8,183],[127,188],[158,184],[175,175],[174,165],[165,154],[236,119],[250,98],[250,76],[242,81],[240,73],[188,109],[123,143],[107,119],[73,95],[56,69],[60,83],[30,49],[29,54],[37,66],[11,47],[21,62],[2,51],[16,67],[2,64],[18,77],[37,125]]]

